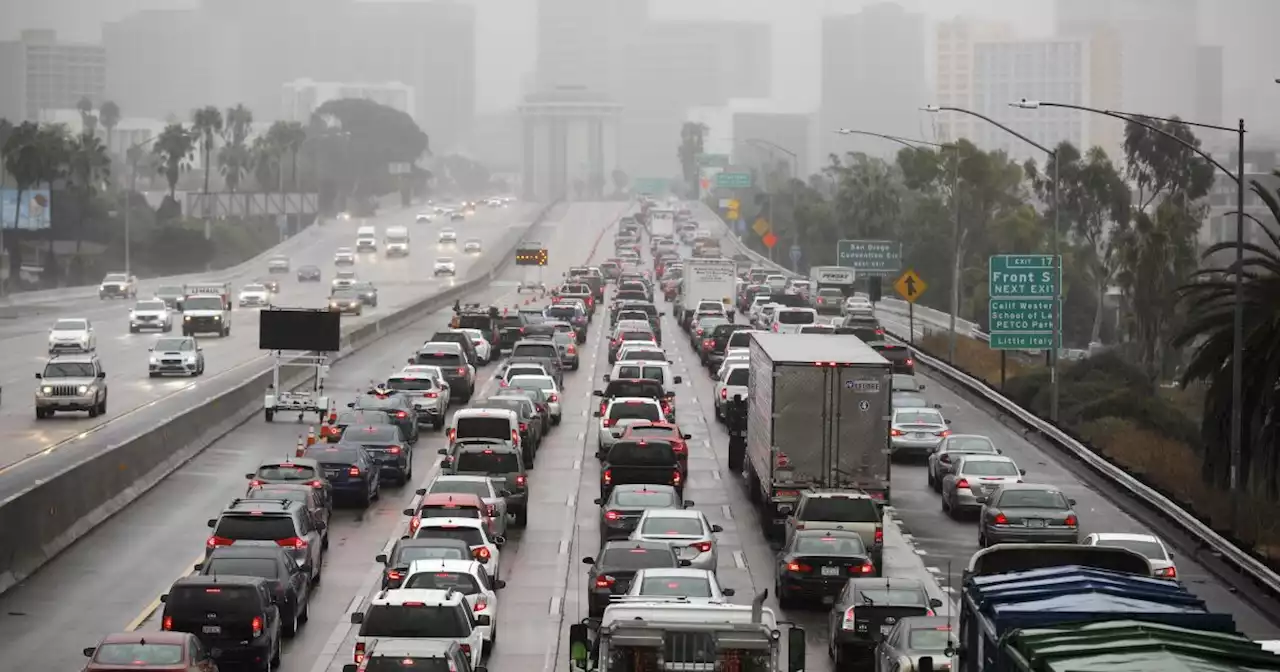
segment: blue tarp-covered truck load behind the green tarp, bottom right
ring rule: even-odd
[[[1230,614],[1171,580],[1080,566],[977,575],[961,595],[960,671],[1000,671],[1000,640],[1014,630],[1121,618],[1235,632]]]

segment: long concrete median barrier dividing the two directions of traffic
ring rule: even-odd
[[[488,285],[511,262],[524,236],[541,224],[558,205],[544,206],[521,236],[512,237],[509,247],[503,248],[488,268],[468,273],[466,282],[346,330],[342,349],[333,361],[344,360],[447,307],[454,298]],[[215,440],[257,416],[271,375],[271,369],[265,367],[247,380],[210,396],[204,403],[174,413],[152,429],[69,465],[0,502],[0,594],[156,486]],[[311,380],[311,372],[298,371],[282,387],[297,389]]]

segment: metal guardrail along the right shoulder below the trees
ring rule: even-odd
[[[714,210],[707,207],[705,204],[700,205],[703,205],[703,207],[708,212],[708,216],[703,219],[717,221],[723,228],[722,239],[726,241],[731,248],[733,248],[740,253],[746,255],[748,257],[751,259],[753,262],[756,262],[762,266],[776,269],[780,273],[783,273],[788,276],[797,276],[797,274],[791,273],[783,269],[782,266],[771,262],[762,255],[749,250],[741,242],[741,239],[739,239],[737,236],[732,233],[732,229],[724,224],[724,221],[719,218],[718,214],[716,214]],[[895,305],[884,306],[884,303],[888,303],[890,301],[893,301]],[[905,319],[908,312],[905,301],[896,301],[896,300],[882,301],[881,303],[877,305],[877,307],[900,315],[902,319]],[[951,316],[942,311],[925,308],[923,306],[916,306],[915,319],[922,320],[928,326],[936,326],[943,330],[950,329]],[[982,333],[975,324],[969,323],[966,320],[960,320],[960,319],[956,320],[956,332],[968,333],[973,338],[987,340],[987,338],[984,338],[987,337],[987,334]],[[908,338],[902,334],[895,334],[892,332],[890,333],[899,340],[904,342],[908,340]],[[1024,428],[1034,430],[1046,440],[1057,447],[1060,451],[1076,458],[1078,461],[1088,466],[1091,470],[1093,470],[1094,474],[1097,474],[1102,479],[1106,479],[1111,484],[1116,485],[1129,497],[1132,497],[1133,499],[1142,503],[1155,513],[1165,517],[1165,520],[1178,526],[1185,535],[1192,538],[1199,545],[1210,549],[1210,552],[1213,553],[1217,559],[1229,564],[1242,577],[1252,581],[1256,586],[1266,590],[1271,599],[1280,598],[1280,575],[1277,575],[1275,571],[1272,571],[1261,561],[1251,556],[1244,549],[1236,547],[1230,540],[1213,531],[1210,526],[1197,520],[1194,515],[1183,509],[1176,502],[1153,490],[1152,488],[1149,488],[1133,475],[1125,472],[1120,467],[1112,465],[1111,462],[1107,462],[1103,457],[1098,456],[1097,453],[1091,451],[1087,445],[1075,440],[1057,426],[1038,417],[1037,415],[1023,408],[1021,406],[1018,406],[1016,403],[1009,401],[997,390],[987,385],[984,381],[961,371],[960,369],[956,369],[946,364],[942,360],[931,356],[927,352],[920,351],[919,348],[911,347],[911,351],[914,352],[916,362],[923,364],[933,372],[959,384],[960,387],[964,388],[965,392],[980,398],[986,403],[997,408],[1000,412],[1009,415],[1019,424],[1021,424]]]

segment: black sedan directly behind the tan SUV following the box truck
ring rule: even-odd
[[[778,553],[774,593],[778,605],[829,604],[855,576],[876,576],[870,550],[851,530],[797,530]]]

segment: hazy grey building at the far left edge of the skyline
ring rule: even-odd
[[[36,122],[42,110],[74,108],[81,99],[102,102],[106,52],[101,46],[69,45],[54,31],[23,31],[0,42],[0,118]]]

